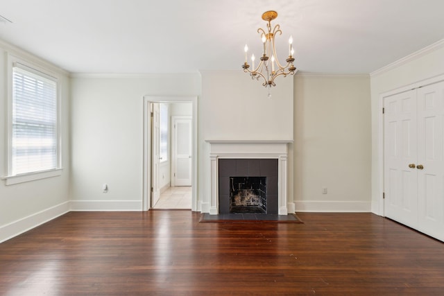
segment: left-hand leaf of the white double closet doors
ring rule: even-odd
[[[417,227],[416,91],[384,100],[385,215]]]

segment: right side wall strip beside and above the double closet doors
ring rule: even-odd
[[[388,65],[371,74],[372,110],[372,212],[383,215],[382,207],[382,105],[381,95],[444,74],[444,41]]]

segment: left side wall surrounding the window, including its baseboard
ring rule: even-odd
[[[44,67],[59,76],[61,87],[62,175],[32,182],[5,185],[0,180],[0,242],[69,210],[69,78],[67,73],[35,56],[0,41],[0,177],[6,168],[6,53]]]

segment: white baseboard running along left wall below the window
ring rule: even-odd
[[[38,213],[32,214],[25,218],[16,220],[12,223],[0,227],[0,243],[8,241],[8,239],[18,236],[28,230],[42,225],[49,220],[53,220],[58,216],[62,216],[69,212],[69,202],[63,202],[49,209],[44,209]]]

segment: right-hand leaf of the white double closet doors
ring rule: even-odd
[[[444,241],[444,82],[418,89],[418,230]]]

